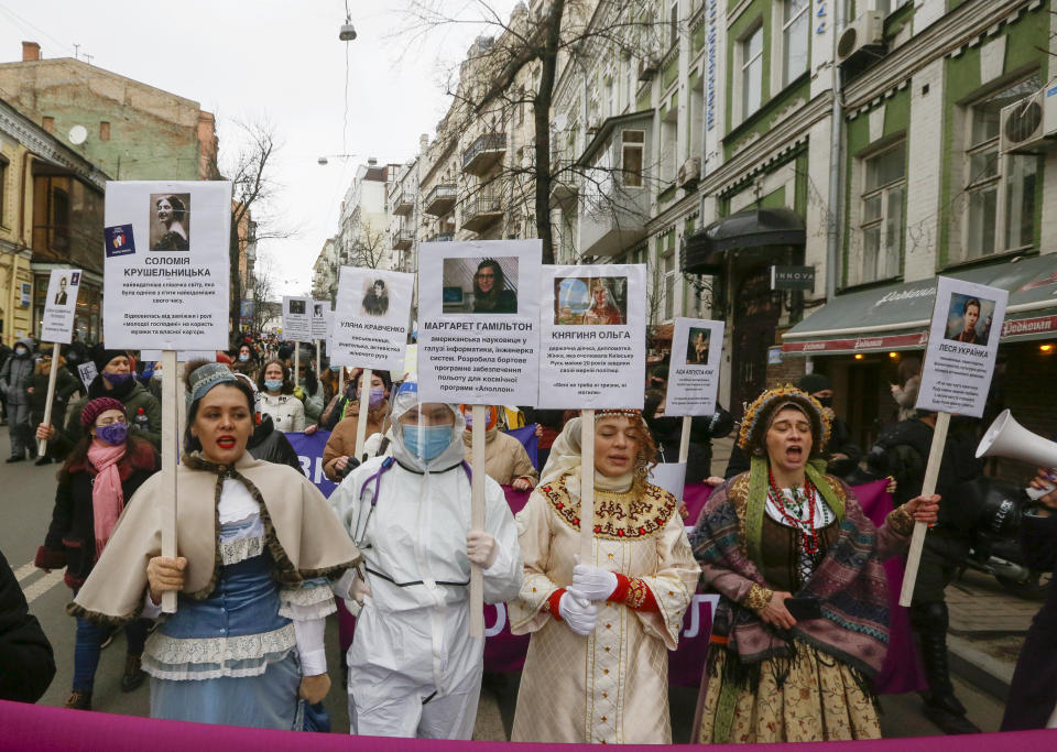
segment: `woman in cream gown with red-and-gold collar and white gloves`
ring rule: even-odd
[[[656,448],[638,411],[598,411],[595,560],[577,563],[580,425],[566,424],[517,514],[525,580],[510,623],[532,640],[512,740],[669,744],[667,651],[698,566],[675,497],[645,480]]]

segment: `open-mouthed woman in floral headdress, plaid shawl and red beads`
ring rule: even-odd
[[[915,521],[936,521],[938,498],[914,498],[875,528],[824,475],[829,428],[798,389],[761,394],[738,438],[751,469],[712,492],[690,535],[704,584],[722,596],[698,741],[881,735],[870,690],[887,650],[881,560],[906,548]]]

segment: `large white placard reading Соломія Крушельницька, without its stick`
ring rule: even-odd
[[[107,347],[227,348],[231,183],[109,182],[105,225]]]

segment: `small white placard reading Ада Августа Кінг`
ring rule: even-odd
[[[722,351],[722,321],[675,319],[665,415],[711,415],[716,412]]]

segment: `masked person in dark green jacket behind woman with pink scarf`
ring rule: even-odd
[[[69,416],[66,419],[66,427],[63,431],[56,431],[52,426],[40,424],[36,427],[36,437],[47,442],[47,454],[55,459],[65,459],[74,445],[84,436],[80,426],[80,411],[89,401],[110,396],[124,405],[124,411],[129,415],[139,414],[140,408],[146,415],[148,428],[140,431],[133,426],[133,431],[142,436],[155,448],[162,445],[162,406],[157,400],[143,385],[138,382],[131,370],[131,360],[129,353],[124,350],[108,350],[103,345],[97,345],[92,349],[91,358],[95,361],[99,373],[92,380],[88,388],[88,395],[78,400],[69,410]]]

